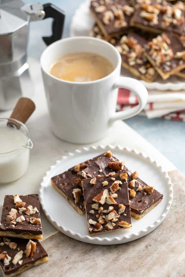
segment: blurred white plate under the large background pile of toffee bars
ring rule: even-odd
[[[75,15],[72,18],[70,26],[70,36],[79,36],[79,35],[89,35],[90,30],[92,29],[95,21],[89,12],[90,0],[85,0],[80,7],[76,10]],[[126,77],[134,76],[124,68],[121,70],[121,75]],[[147,89],[157,89],[157,90],[173,90],[179,91],[184,89],[184,80],[178,76],[171,76],[167,80],[163,80],[160,76],[156,79],[155,82],[148,83],[143,80],[140,80]]]

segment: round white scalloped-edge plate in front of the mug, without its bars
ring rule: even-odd
[[[50,178],[64,172],[77,163],[95,157],[110,149],[112,149],[113,154],[119,160],[125,161],[126,166],[131,171],[137,170],[143,181],[154,186],[164,196],[158,206],[142,219],[139,221],[132,219],[131,229],[90,237],[87,235],[85,214],[81,216],[75,212],[67,200],[51,186]],[[56,161],[55,165],[52,165],[43,177],[39,194],[40,203],[47,219],[60,232],[83,242],[108,245],[129,242],[153,231],[168,214],[173,199],[173,186],[168,173],[164,172],[161,166],[157,165],[155,161],[152,161],[143,153],[119,146],[91,146],[75,150],[74,153],[68,153],[68,156],[63,156],[60,161]]]

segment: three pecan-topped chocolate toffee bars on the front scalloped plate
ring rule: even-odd
[[[111,151],[52,177],[51,184],[79,214],[86,212],[90,236],[131,228],[131,216],[141,219],[163,199]]]

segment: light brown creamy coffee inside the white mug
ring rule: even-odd
[[[78,52],[55,60],[50,67],[50,74],[65,81],[89,82],[102,79],[113,70],[113,64],[102,55]]]

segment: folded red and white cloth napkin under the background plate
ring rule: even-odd
[[[117,110],[130,109],[138,104],[138,98],[128,89],[120,88],[118,92]],[[140,113],[148,118],[185,121],[185,92],[149,91],[148,102]]]

